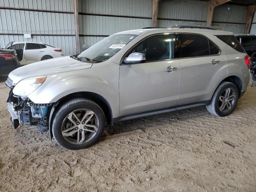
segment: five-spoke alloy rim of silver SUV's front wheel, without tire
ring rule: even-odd
[[[96,135],[99,118],[91,110],[78,109],[69,113],[62,122],[62,136],[72,144],[84,144]]]

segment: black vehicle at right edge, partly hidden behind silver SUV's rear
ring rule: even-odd
[[[256,35],[239,34],[235,36],[244,47],[246,53],[252,57],[252,54],[256,52]]]

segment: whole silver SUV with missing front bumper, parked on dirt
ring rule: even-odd
[[[229,115],[248,86],[250,57],[233,33],[196,28],[124,31],[80,54],[12,71],[14,128],[36,125],[78,150],[94,144],[106,123],[197,106]]]

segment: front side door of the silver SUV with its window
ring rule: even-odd
[[[180,64],[174,56],[174,36],[151,36],[127,53],[143,53],[146,62],[120,65],[120,116],[175,108]]]

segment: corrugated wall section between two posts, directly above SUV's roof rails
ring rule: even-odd
[[[206,1],[162,0],[159,2],[158,26],[205,25],[206,15]]]

